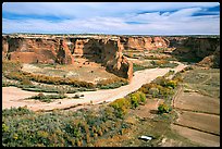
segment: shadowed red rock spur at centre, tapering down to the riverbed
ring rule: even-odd
[[[90,61],[101,63],[107,71],[118,76],[132,79],[133,63],[123,55],[124,47],[120,40],[77,39],[74,45],[74,57],[85,57]]]

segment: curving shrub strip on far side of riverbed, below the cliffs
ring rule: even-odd
[[[128,80],[122,77],[113,77],[109,79],[103,79],[97,84],[77,80],[71,77],[58,77],[58,76],[47,76],[40,74],[33,74],[28,72],[23,72],[21,70],[22,65],[13,61],[3,61],[3,76],[9,80],[14,82],[2,82],[2,87],[5,86],[16,86],[23,90],[29,91],[42,91],[42,92],[58,92],[58,94],[74,94],[76,91],[94,91],[96,88],[100,89],[111,89],[118,88],[123,85],[127,85]],[[54,65],[47,65],[54,66]],[[35,85],[34,83],[40,83]],[[53,86],[54,85],[54,86]],[[58,87],[58,86],[66,87]]]

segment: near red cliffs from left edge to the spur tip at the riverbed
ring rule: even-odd
[[[123,46],[114,39],[95,38],[22,38],[2,37],[3,59],[23,63],[74,64],[76,57],[101,63],[107,71],[132,79],[133,63],[122,53]]]

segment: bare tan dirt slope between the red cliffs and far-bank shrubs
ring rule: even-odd
[[[116,77],[114,74],[106,71],[106,67],[99,63],[89,62],[87,59],[75,58],[75,64],[39,66],[38,64],[23,64],[24,72],[34,74],[44,74],[48,76],[71,77],[78,80],[97,83],[100,79]]]

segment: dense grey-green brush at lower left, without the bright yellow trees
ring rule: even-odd
[[[26,108],[2,111],[2,145],[4,147],[75,147],[95,146],[106,134],[127,128],[110,113],[111,107],[99,111],[78,110],[50,113],[32,112]],[[23,115],[15,114],[25,111]],[[114,127],[113,127],[114,126]]]

